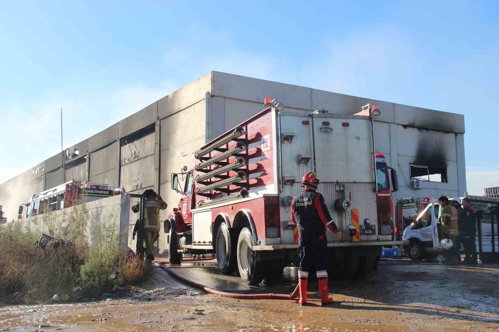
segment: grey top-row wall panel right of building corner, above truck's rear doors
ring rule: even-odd
[[[213,72],[213,95],[263,104],[271,97],[294,108],[312,109],[311,89],[302,86],[259,80],[240,75]]]

